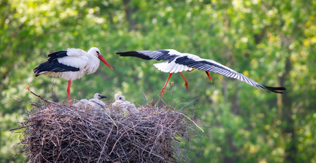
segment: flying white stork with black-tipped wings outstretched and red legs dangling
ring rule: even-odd
[[[157,51],[126,51],[126,52],[119,52],[117,54],[124,57],[132,56],[132,57],[142,58],[144,60],[152,60],[152,59],[168,60],[166,62],[154,64],[154,66],[158,68],[158,70],[163,71],[165,73],[170,73],[165,86],[163,86],[162,90],[159,93],[159,95],[162,93],[161,97],[163,97],[163,93],[165,92],[165,88],[168,84],[168,81],[172,73],[180,73],[184,79],[185,88],[189,90],[188,82],[184,78],[181,72],[182,71],[191,72],[191,71],[194,71],[195,69],[205,71],[207,76],[210,78],[211,82],[212,82],[212,78],[209,72],[218,73],[221,75],[225,75],[226,77],[232,77],[232,78],[238,79],[256,88],[267,90],[268,92],[283,93],[283,92],[280,92],[280,90],[286,90],[286,88],[284,87],[262,86],[261,84],[254,82],[249,77],[246,77],[245,75],[237,73],[231,68],[228,68],[227,66],[224,66],[223,64],[219,64],[218,62],[215,62],[214,60],[205,60],[203,58],[200,58],[197,55],[190,54],[190,53],[180,53],[179,51],[176,51],[174,49],[165,49],[165,50],[157,50]]]

